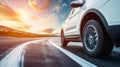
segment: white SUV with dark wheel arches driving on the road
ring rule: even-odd
[[[120,0],[76,0],[70,5],[61,30],[63,47],[82,41],[88,55],[101,58],[120,46]]]

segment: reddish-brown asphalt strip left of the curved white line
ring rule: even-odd
[[[17,38],[0,36],[0,60],[15,47],[21,45],[24,42],[36,39],[38,38]]]

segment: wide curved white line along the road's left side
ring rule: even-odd
[[[30,43],[37,43],[40,42],[41,40],[34,40],[34,41],[29,41],[26,43],[21,44],[20,46],[16,47],[13,49],[7,56],[5,56],[1,61],[0,61],[0,67],[20,67],[20,62],[21,62],[21,67],[23,67],[24,63],[24,48],[29,45]]]

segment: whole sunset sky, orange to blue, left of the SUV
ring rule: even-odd
[[[0,25],[33,33],[58,33],[72,0],[0,0]]]

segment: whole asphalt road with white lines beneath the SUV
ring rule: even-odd
[[[0,37],[0,67],[120,67],[120,49],[96,59],[85,54],[82,43],[61,47],[60,37]]]

